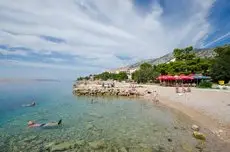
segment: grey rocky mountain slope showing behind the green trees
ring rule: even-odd
[[[196,53],[196,55],[200,58],[206,58],[206,57],[213,57],[214,55],[214,50],[215,48],[211,49],[194,49],[193,51]],[[130,66],[128,66],[129,69],[137,68],[139,67],[142,63],[147,62],[152,65],[158,65],[161,63],[166,63],[174,59],[173,53],[168,53],[162,57],[155,58],[155,59],[148,59],[148,60],[143,60],[137,63],[134,63]]]

